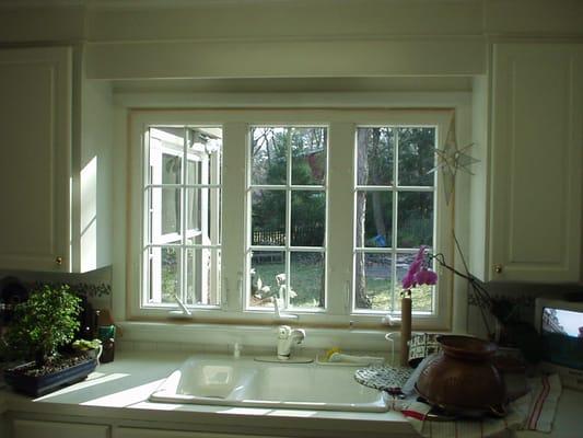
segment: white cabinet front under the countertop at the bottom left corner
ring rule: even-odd
[[[109,438],[109,426],[15,419],[14,438]]]

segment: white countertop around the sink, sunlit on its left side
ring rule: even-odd
[[[10,390],[0,391],[3,411],[51,416],[86,417],[91,423],[104,418],[115,424],[140,422],[150,427],[165,424],[185,429],[221,433],[296,435],[335,437],[417,436],[412,427],[396,412],[357,413],[334,411],[294,411],[242,408],[194,404],[150,403],[148,396],[191,353],[117,351],[115,361],[97,367],[88,380],[48,395],[31,399]],[[153,356],[153,357],[152,357]],[[563,390],[551,435],[517,433],[516,436],[573,437],[582,425],[583,392]]]

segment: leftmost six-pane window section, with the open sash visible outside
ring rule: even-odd
[[[221,129],[145,132],[142,306],[217,306],[220,298]]]

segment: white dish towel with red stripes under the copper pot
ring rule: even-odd
[[[506,429],[550,431],[561,382],[557,374],[529,379],[530,392],[509,404],[503,418],[435,420],[429,419],[431,406],[417,400],[400,400],[393,408],[400,411],[411,426],[428,438],[483,438]]]

